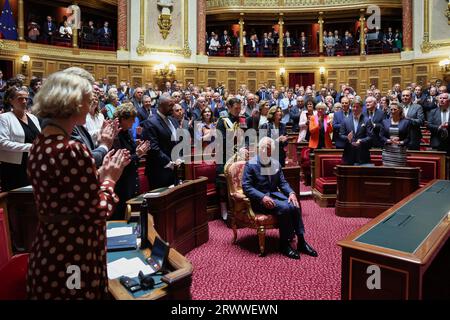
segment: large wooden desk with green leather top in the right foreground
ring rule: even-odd
[[[342,299],[450,298],[450,181],[435,180],[338,242]],[[380,268],[381,289],[368,289]]]

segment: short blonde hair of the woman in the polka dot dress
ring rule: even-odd
[[[33,113],[41,118],[69,118],[80,112],[83,100],[92,95],[88,79],[71,72],[56,72],[34,98]]]

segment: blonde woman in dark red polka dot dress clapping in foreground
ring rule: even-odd
[[[87,79],[62,72],[51,75],[35,97],[33,111],[48,123],[28,162],[39,217],[28,271],[31,299],[107,297],[106,218],[118,201],[115,182],[130,159],[123,150],[109,153],[97,171],[88,149],[69,140],[68,132],[85,123],[91,100]]]

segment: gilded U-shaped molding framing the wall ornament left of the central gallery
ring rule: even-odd
[[[192,50],[189,47],[189,0],[183,0],[184,9],[184,34],[183,34],[183,47],[182,48],[174,48],[174,49],[165,49],[165,48],[154,48],[145,44],[145,0],[141,0],[140,3],[140,35],[139,35],[139,43],[136,48],[136,53],[138,56],[144,56],[146,54],[151,53],[171,53],[175,55],[181,55],[185,58],[190,58],[192,56]]]

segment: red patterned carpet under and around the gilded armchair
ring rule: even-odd
[[[302,190],[303,191],[303,190]],[[209,223],[209,241],[187,254],[194,266],[195,300],[337,300],[341,294],[341,249],[337,242],[368,219],[340,218],[334,208],[302,200],[307,241],[319,257],[291,260],[277,252],[278,230],[266,235],[267,256],[258,257],[256,231],[240,229],[238,243],[220,220]]]

